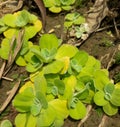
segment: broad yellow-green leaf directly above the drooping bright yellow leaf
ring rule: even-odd
[[[56,59],[61,59],[63,57],[72,58],[78,52],[78,49],[75,46],[69,44],[63,44],[57,51],[55,56]]]

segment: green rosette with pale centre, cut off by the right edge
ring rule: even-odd
[[[114,85],[112,83],[105,85],[103,90],[95,93],[94,102],[98,106],[103,107],[103,111],[112,116],[118,112],[120,106],[120,83]]]

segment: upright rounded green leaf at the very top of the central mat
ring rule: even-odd
[[[54,34],[44,34],[39,41],[41,49],[51,50],[53,48],[58,48],[59,42],[57,37]]]

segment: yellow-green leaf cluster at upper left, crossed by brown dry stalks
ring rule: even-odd
[[[13,37],[18,38],[19,31],[24,29],[25,34],[21,43],[23,43],[20,56],[28,52],[29,39],[33,38],[37,32],[42,28],[42,23],[38,18],[30,14],[28,11],[23,10],[16,12],[14,14],[6,14],[0,19],[0,34],[3,33],[4,39],[1,42],[0,57],[3,59],[8,59],[9,52],[11,50],[11,41]],[[16,41],[13,46],[16,47]],[[20,57],[18,58],[20,59]]]

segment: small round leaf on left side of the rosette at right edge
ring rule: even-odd
[[[103,106],[108,103],[108,101],[105,99],[105,93],[103,91],[98,91],[94,95],[94,102],[98,106]]]

